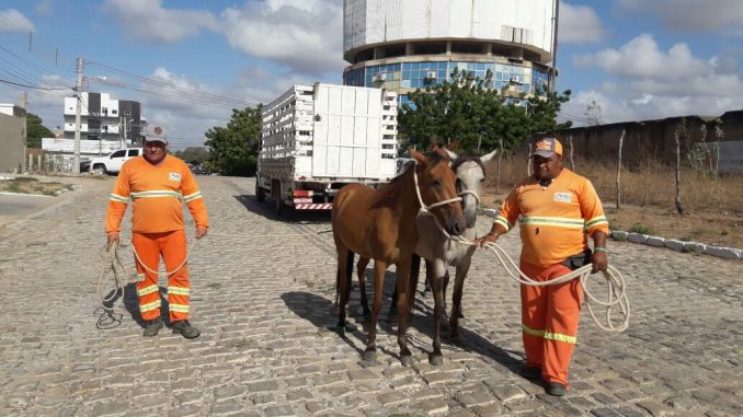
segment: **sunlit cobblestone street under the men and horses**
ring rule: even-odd
[[[427,361],[433,309],[421,296],[409,332],[414,367],[400,364],[386,316],[378,363],[361,364],[357,291],[358,331],[328,328],[336,321],[329,215],[279,219],[254,200],[253,178],[198,177],[213,222],[190,259],[202,336],[144,338],[130,286],[115,304],[121,322],[99,310],[113,179],[81,181],[0,229],[0,416],[743,415],[741,262],[609,242],[629,285],[630,327],[607,334],[584,312],[572,386],[556,398],[518,374],[518,287],[485,251],[465,287],[461,340],[444,344],[442,367]],[[479,230],[490,221],[480,218]],[[499,243],[517,256],[517,233]]]

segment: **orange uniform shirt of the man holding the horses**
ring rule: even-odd
[[[588,247],[587,235],[609,233],[604,208],[591,182],[563,169],[547,187],[529,177],[501,206],[495,222],[510,230],[518,221],[522,260],[538,266],[559,264]]]

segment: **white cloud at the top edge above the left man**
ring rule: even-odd
[[[217,31],[217,19],[205,10],[164,9],[162,0],[107,0],[103,11],[118,23],[127,36],[173,43],[198,34],[202,28]]]

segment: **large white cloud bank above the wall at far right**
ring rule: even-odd
[[[743,76],[734,60],[701,59],[685,44],[663,51],[652,36],[643,34],[618,49],[578,56],[574,62],[613,76],[563,106],[563,113],[579,125],[586,121],[584,112],[592,101],[601,105],[604,123],[718,116],[743,108]]]

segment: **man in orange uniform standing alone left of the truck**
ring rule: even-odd
[[[162,328],[158,274],[160,256],[165,263],[168,304],[173,333],[185,338],[199,335],[188,323],[188,265],[183,224],[184,201],[196,222],[196,239],[206,236],[209,218],[202,193],[188,166],[167,152],[163,137],[146,138],[145,152],[124,163],[108,198],[106,234],[108,247],[118,242],[122,218],[129,200],[132,209],[132,244],[137,262],[139,313],[145,321],[145,336],[156,336]],[[144,265],[142,265],[144,264]],[[146,267],[145,267],[146,266]],[[179,268],[180,266],[180,268]]]

